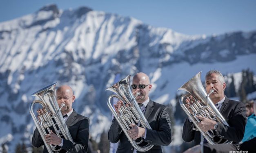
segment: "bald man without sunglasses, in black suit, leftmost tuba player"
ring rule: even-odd
[[[55,133],[51,132],[45,136],[47,144],[57,145],[62,150],[60,153],[86,153],[88,149],[89,141],[89,118],[77,114],[72,108],[72,104],[75,101],[73,90],[68,85],[62,85],[56,90],[56,99],[60,107],[62,103],[65,103],[65,107],[62,107],[61,113],[69,129],[69,133],[73,138],[73,142],[64,138],[58,137]],[[39,109],[38,114],[42,114],[42,109]],[[51,127],[50,129],[53,130]],[[32,144],[35,147],[44,145],[44,142],[38,132],[35,129]],[[43,153],[48,153],[46,147],[44,147]]]

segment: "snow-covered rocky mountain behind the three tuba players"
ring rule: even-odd
[[[91,135],[98,139],[111,124],[106,100],[112,93],[105,89],[116,73],[147,73],[151,99],[176,105],[177,89],[197,72],[255,73],[255,59],[256,31],[189,36],[87,7],[45,6],[0,23],[0,144],[11,151],[21,140],[30,144],[30,95],[53,82],[73,88],[73,107],[90,118]]]

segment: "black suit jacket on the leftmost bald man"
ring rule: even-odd
[[[86,153],[89,141],[89,118],[77,114],[76,111],[73,110],[67,119],[66,124],[74,142],[63,139],[61,153],[67,151],[70,153]],[[44,145],[42,137],[40,136],[37,128],[33,134],[32,144],[35,147]],[[48,153],[46,147],[44,147],[43,153]]]

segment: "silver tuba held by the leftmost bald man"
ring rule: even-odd
[[[73,139],[69,133],[69,129],[65,123],[65,120],[63,119],[63,116],[60,113],[60,109],[64,107],[65,104],[62,104],[59,108],[58,103],[56,101],[55,85],[56,83],[53,83],[33,93],[31,96],[36,96],[40,98],[42,101],[33,101],[29,107],[29,112],[36,124],[36,127],[49,153],[56,153],[61,150],[59,146],[52,144],[49,145],[45,141],[45,135],[47,135],[47,132],[51,133],[50,127],[53,127],[55,133],[59,137],[64,136],[65,139],[73,142]],[[33,105],[36,103],[42,105],[43,109],[45,109],[44,114],[38,117],[35,116],[33,112]],[[38,118],[40,118],[40,120],[38,120]]]

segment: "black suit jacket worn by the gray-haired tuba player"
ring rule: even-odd
[[[218,122],[217,131],[214,132],[215,136],[231,140],[233,143],[240,142],[243,139],[247,121],[245,105],[238,101],[229,100],[226,96],[220,108],[220,114],[228,122],[229,127]],[[185,142],[194,140],[194,145],[197,145],[200,144],[200,132],[194,131],[194,127],[194,123],[189,122],[187,118],[183,126],[182,138]],[[214,140],[219,139],[218,137],[215,137]]]

